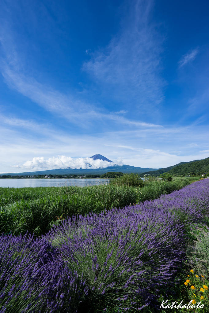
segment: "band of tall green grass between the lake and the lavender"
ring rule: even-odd
[[[179,178],[173,182],[141,181],[138,187],[116,182],[89,187],[0,188],[0,233],[11,230],[17,235],[28,230],[40,236],[67,216],[157,199],[190,182],[191,179]]]

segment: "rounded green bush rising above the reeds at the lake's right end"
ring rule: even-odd
[[[116,177],[111,181],[114,186],[143,186],[144,182],[138,174],[130,173],[123,174],[120,177]]]

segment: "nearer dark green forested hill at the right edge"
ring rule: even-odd
[[[173,167],[169,173],[174,175],[184,175],[184,174],[204,174],[209,172],[209,157],[200,161],[193,161],[189,164],[180,164],[177,167]]]

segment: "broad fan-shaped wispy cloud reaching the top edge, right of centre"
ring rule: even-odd
[[[103,93],[147,110],[161,103],[165,85],[160,77],[163,37],[151,22],[152,9],[152,0],[132,1],[122,31],[83,64]]]

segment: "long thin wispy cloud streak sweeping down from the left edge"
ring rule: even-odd
[[[22,95],[28,97],[41,107],[56,114],[58,117],[70,120],[72,123],[78,123],[80,127],[87,127],[91,124],[91,121],[115,121],[115,123],[129,126],[148,126],[148,127],[162,127],[153,123],[145,123],[132,119],[127,119],[121,114],[125,114],[127,110],[120,110],[117,112],[104,112],[95,105],[90,105],[85,101],[74,99],[70,95],[62,94],[59,91],[53,90],[49,86],[40,84],[31,77],[26,77],[19,70],[15,69],[13,64],[6,64],[2,69],[2,74],[7,84],[19,91]],[[76,120],[75,120],[76,119]],[[8,122],[12,124],[19,123],[20,125],[26,125],[27,121],[23,122],[19,119],[8,119]]]

